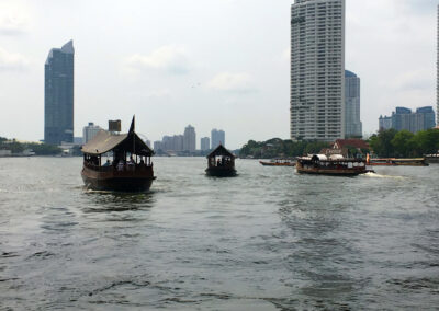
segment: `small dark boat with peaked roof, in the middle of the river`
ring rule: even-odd
[[[209,176],[230,177],[236,176],[235,156],[228,151],[223,145],[219,145],[207,157],[207,169],[205,170]]]

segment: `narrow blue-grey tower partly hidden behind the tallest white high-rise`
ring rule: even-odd
[[[362,136],[360,120],[360,78],[345,70],[345,136]]]

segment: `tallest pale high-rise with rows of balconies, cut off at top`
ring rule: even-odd
[[[291,7],[291,138],[345,137],[345,0]]]

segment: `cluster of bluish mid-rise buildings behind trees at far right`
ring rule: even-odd
[[[380,116],[380,129],[394,128],[396,130],[405,129],[417,133],[434,128],[436,126],[435,116],[432,106],[420,107],[416,112],[412,112],[406,107],[396,107],[392,116]]]

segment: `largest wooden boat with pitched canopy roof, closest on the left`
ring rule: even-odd
[[[145,192],[156,178],[150,157],[154,151],[134,131],[134,117],[127,134],[101,130],[82,147],[81,176],[95,191]],[[110,156],[106,163],[102,158]]]

